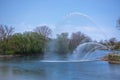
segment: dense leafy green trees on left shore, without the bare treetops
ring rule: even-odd
[[[43,53],[46,41],[36,32],[16,33],[11,38],[11,50],[15,54],[30,55]]]

